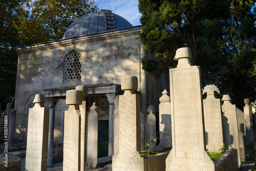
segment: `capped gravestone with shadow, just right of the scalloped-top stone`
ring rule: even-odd
[[[223,112],[223,130],[224,143],[231,146],[233,152],[234,169],[240,168],[240,150],[238,136],[238,120],[236,114],[236,105],[231,104],[229,95],[222,97],[222,112]]]

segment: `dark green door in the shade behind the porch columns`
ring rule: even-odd
[[[98,158],[109,156],[109,120],[99,120]]]

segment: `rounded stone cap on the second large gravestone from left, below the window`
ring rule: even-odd
[[[66,92],[66,104],[82,104],[82,91],[80,90],[68,90]]]

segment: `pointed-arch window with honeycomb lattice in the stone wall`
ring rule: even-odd
[[[81,80],[82,75],[81,55],[71,51],[65,58],[65,82]]]

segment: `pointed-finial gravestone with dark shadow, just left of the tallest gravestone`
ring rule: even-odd
[[[164,90],[162,96],[159,98],[159,135],[160,135],[160,148],[172,147],[172,125],[170,116],[170,96]]]

